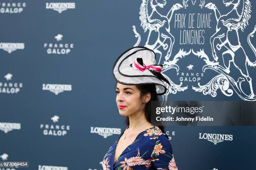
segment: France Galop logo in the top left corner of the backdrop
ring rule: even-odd
[[[17,14],[23,11],[26,2],[0,2],[0,13]]]

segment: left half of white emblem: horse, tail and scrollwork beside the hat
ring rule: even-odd
[[[146,32],[148,32],[148,37],[146,44],[144,45],[145,47],[148,47],[152,50],[154,50],[155,53],[158,53],[160,55],[158,61],[156,61],[156,64],[159,64],[161,61],[162,57],[162,52],[160,51],[159,47],[163,47],[163,49],[167,52],[164,54],[164,59],[167,61],[169,60],[171,54],[172,54],[172,47],[174,45],[174,36],[170,33],[170,21],[172,19],[172,15],[175,10],[179,10],[182,8],[182,5],[179,3],[174,4],[167,15],[161,15],[159,11],[157,11],[156,7],[161,7],[163,8],[166,5],[166,0],[142,0],[141,7],[140,7],[140,20],[141,20],[141,26]],[[155,31],[158,33],[157,40],[154,42],[154,44],[149,45],[149,41],[151,38],[151,32]],[[138,38],[136,44],[134,46],[138,46],[141,42],[141,36],[138,34],[136,31],[136,27],[133,25],[133,32],[135,34],[135,37]],[[163,40],[162,40],[163,39]],[[170,40],[170,42],[166,42],[166,40]],[[165,52],[164,51],[164,52]],[[166,70],[175,68],[176,70],[179,70],[179,66],[176,65],[176,62],[179,60],[179,57],[182,57],[183,54],[185,54],[183,50],[176,55],[175,60],[172,60],[172,62],[166,62],[165,65],[162,69],[162,73]],[[184,57],[184,56],[183,56]],[[173,65],[172,65],[173,64]],[[178,91],[184,91],[187,90],[186,87],[182,87],[182,82],[177,85],[172,80],[165,74],[163,74],[164,77],[166,77],[170,85],[166,85],[167,88],[169,89],[164,95],[162,95],[163,99],[166,101],[169,93],[176,94]]]

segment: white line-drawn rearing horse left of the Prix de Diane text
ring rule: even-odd
[[[139,14],[140,14],[139,18],[141,20],[141,26],[142,26],[144,32],[149,30],[148,38],[147,38],[146,44],[144,46],[148,47],[148,48],[154,50],[154,52],[160,54],[159,62],[160,62],[161,56],[162,56],[161,51],[158,50],[159,47],[163,47],[164,50],[167,50],[167,48],[168,48],[168,52],[165,55],[165,60],[168,60],[172,54],[172,47],[174,44],[174,36],[170,33],[170,24],[169,23],[170,23],[170,20],[172,19],[173,12],[175,10],[182,8],[182,5],[175,4],[169,10],[167,15],[164,16],[164,15],[161,15],[157,11],[156,7],[163,8],[165,5],[166,5],[166,0],[142,0],[140,12],[139,12]],[[157,32],[158,36],[157,36],[156,42],[154,42],[153,45],[149,45],[148,43],[150,41],[152,31]],[[163,41],[160,40],[160,36],[162,38],[164,38]],[[165,41],[167,39],[170,40],[170,45],[165,43]]]

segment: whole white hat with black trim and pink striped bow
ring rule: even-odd
[[[113,76],[125,85],[155,84],[157,95],[166,93],[170,82],[161,74],[163,65],[156,65],[156,54],[147,47],[132,47],[115,61]]]

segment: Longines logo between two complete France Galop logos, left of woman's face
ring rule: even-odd
[[[55,95],[58,95],[60,92],[71,91],[72,85],[61,85],[61,84],[43,84],[42,90],[49,90]]]

